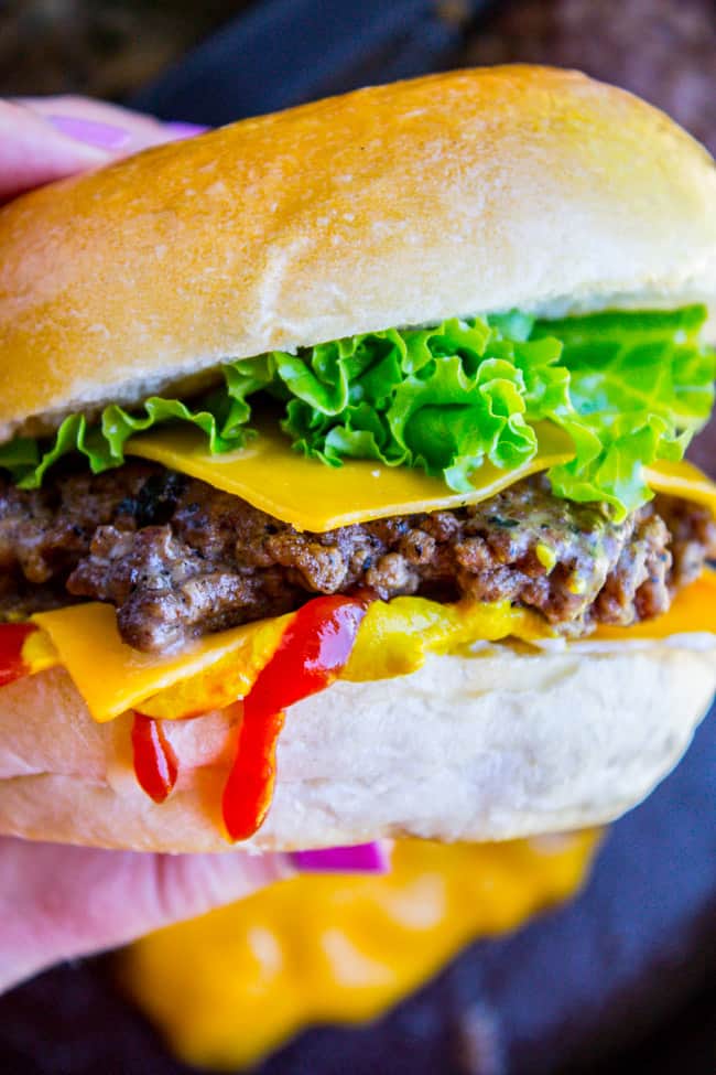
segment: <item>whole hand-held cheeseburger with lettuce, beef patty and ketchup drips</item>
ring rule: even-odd
[[[716,684],[716,172],[514,66],[0,211],[0,831],[584,828]]]

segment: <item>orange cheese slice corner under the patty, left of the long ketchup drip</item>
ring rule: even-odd
[[[126,645],[109,604],[76,604],[32,617],[50,636],[59,663],[100,723],[139,708],[160,690],[206,675],[228,655],[234,664],[232,686],[237,694],[247,694],[275,652],[290,619],[260,620],[206,635],[188,651],[161,655],[139,653]]]

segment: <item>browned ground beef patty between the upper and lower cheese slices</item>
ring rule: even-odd
[[[328,534],[144,463],[33,493],[0,486],[0,612],[110,601],[122,637],[144,651],[357,588],[508,599],[581,634],[664,612],[715,553],[716,526],[696,505],[657,497],[617,525],[541,476],[471,507]]]

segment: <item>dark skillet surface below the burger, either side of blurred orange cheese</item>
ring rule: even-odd
[[[262,1075],[538,1075],[605,1062],[716,976],[716,712],[646,804],[618,821],[569,906],[474,945],[377,1024],[316,1029]],[[701,1001],[708,1024],[713,1008]],[[609,1072],[659,1072],[680,1032]],[[659,1043],[657,1039],[657,1044]],[[714,1035],[688,1075],[712,1075]],[[654,1055],[655,1053],[655,1055]],[[698,1056],[702,1066],[698,1066]],[[186,1075],[111,981],[108,961],[54,970],[0,999],[3,1075]]]

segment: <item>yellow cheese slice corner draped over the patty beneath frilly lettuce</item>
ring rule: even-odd
[[[324,534],[351,523],[476,504],[574,454],[572,439],[557,426],[542,422],[536,432],[534,459],[513,470],[485,463],[473,475],[470,493],[455,493],[442,477],[411,466],[383,466],[375,460],[327,466],[294,452],[281,430],[270,424],[238,452],[210,455],[206,438],[191,428],[160,428],[132,437],[124,451],[240,496],[299,530]]]

